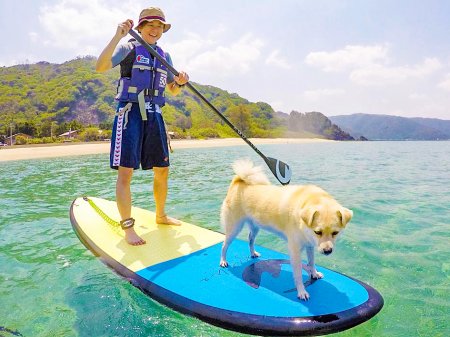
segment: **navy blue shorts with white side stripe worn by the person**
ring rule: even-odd
[[[131,109],[124,109],[126,105],[120,102],[117,106],[111,138],[111,168],[141,166],[149,170],[169,166],[169,146],[160,107],[146,103],[147,120],[143,121],[138,103],[133,103]]]

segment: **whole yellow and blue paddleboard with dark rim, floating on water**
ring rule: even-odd
[[[318,267],[324,278],[303,280],[311,296],[300,301],[289,257],[235,240],[229,267],[219,267],[224,235],[189,223],[155,224],[155,214],[133,207],[136,232],[147,241],[131,246],[124,240],[115,202],[78,198],[70,220],[81,242],[94,255],[153,299],[219,327],[270,336],[323,335],[361,324],[383,307],[369,285]]]

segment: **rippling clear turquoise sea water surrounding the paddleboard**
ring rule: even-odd
[[[317,263],[370,284],[385,306],[333,336],[450,336],[450,142],[258,148],[291,166],[291,184],[317,184],[354,211],[336,252]],[[231,163],[242,157],[265,166],[245,144],[176,150],[168,213],[219,230]],[[136,172],[136,206],[154,208],[151,182]],[[70,204],[114,199],[114,188],[107,155],[0,163],[0,336],[245,336],[154,302],[86,250]],[[257,243],[287,251],[272,234]]]

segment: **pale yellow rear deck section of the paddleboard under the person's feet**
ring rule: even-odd
[[[116,202],[91,198],[109,218],[120,220]],[[78,198],[73,215],[79,228],[109,256],[136,272],[143,268],[210,247],[224,240],[224,235],[186,222],[181,226],[157,225],[155,213],[133,207],[135,230],[147,243],[131,246],[120,226],[109,224],[86,200]]]

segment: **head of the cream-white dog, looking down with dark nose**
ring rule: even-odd
[[[309,237],[314,240],[319,252],[325,255],[333,252],[336,238],[352,216],[353,212],[342,206],[310,207],[301,212]]]

